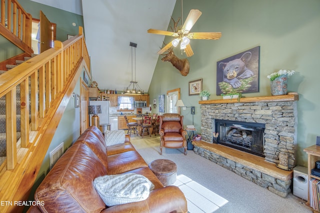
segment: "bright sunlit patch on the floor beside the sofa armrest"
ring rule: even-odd
[[[177,175],[176,181],[172,185],[178,186],[184,193],[190,213],[213,212],[228,202],[183,174]]]

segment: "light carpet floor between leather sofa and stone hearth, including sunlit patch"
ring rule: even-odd
[[[177,181],[188,201],[189,212],[312,212],[290,193],[286,198],[252,183],[204,157],[183,148],[163,148],[159,135],[131,136],[131,142],[147,163],[164,158],[177,165]],[[213,203],[213,204],[212,204]]]

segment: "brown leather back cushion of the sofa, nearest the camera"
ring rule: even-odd
[[[100,212],[106,206],[93,186],[106,175],[103,163],[84,143],[73,144],[55,163],[35,191],[42,212]]]

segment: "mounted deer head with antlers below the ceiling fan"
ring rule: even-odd
[[[161,58],[162,61],[169,61],[172,63],[172,65],[177,68],[181,75],[186,76],[189,73],[189,61],[186,58],[180,59],[177,56],[174,55],[174,52],[172,51],[172,48],[169,48],[167,50],[168,53],[166,54],[161,54],[165,55],[164,57]]]

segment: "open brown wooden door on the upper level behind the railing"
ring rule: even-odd
[[[52,47],[52,24],[40,10],[40,53]]]

